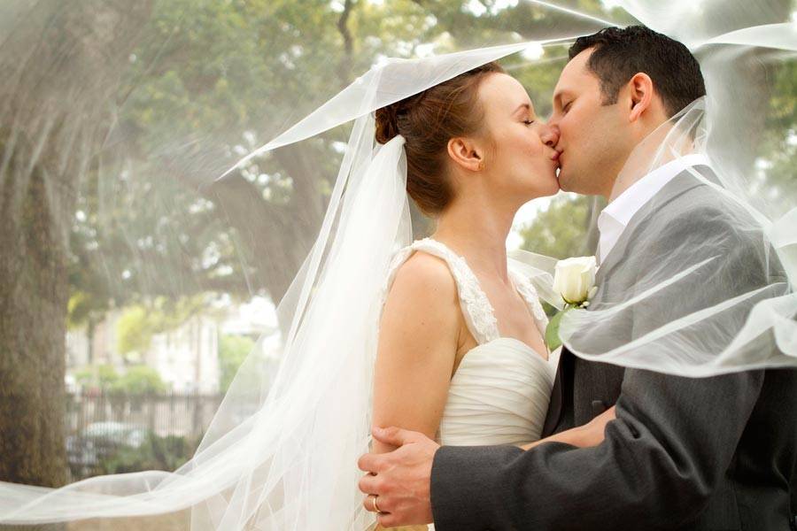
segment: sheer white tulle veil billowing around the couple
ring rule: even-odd
[[[739,91],[749,74],[750,54],[762,62],[793,60],[794,26],[751,26],[739,15],[745,3],[737,3],[738,9],[729,3],[724,31],[705,29],[700,3],[677,2],[666,9],[642,0],[618,4],[634,19],[694,50],[709,94],[643,142],[623,173],[634,181],[686,153],[705,153],[713,162],[711,170],[689,168],[689,178],[716,192],[731,227],[747,235],[746,242],[757,242],[753,252],[766,264],[767,274],[754,292],[703,282],[706,291],[693,290],[694,300],[683,302],[679,282],[707,272],[711,278],[732,279],[737,265],[723,261],[721,254],[695,263],[695,242],[668,242],[671,259],[645,272],[638,293],[589,312],[569,312],[561,324],[563,340],[584,358],[693,377],[795,367],[797,211],[756,196],[749,161],[740,159],[747,152],[738,146],[744,142],[746,117],[737,112],[744,106]],[[318,237],[277,308],[279,345],[261,341],[252,350],[185,466],[174,472],[90,478],[61,489],[0,483],[0,522],[126,518],[190,508],[191,528],[197,530],[359,531],[370,526],[374,519],[361,508],[355,463],[368,450],[376,319],[391,257],[412,239],[403,139],[377,145],[373,113],[477,65],[561,46],[607,25],[591,22],[595,27],[588,31],[564,28],[538,41],[385,59],[227,173],[220,172],[223,180],[269,151],[312,141],[314,135],[352,122]],[[731,127],[739,134],[729,135]],[[726,243],[700,242],[718,249]],[[540,295],[560,304],[552,289],[555,261],[530,253],[515,258],[513,266],[530,276]],[[717,296],[717,286],[731,295]],[[646,335],[624,340],[626,335],[617,330],[649,304],[684,304],[690,311],[665,315],[662,322],[653,319]],[[275,356],[280,364],[273,373],[270,360]]]

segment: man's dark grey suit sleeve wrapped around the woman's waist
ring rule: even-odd
[[[599,446],[443,447],[431,476],[436,528],[676,528],[727,470],[762,380],[629,370]]]

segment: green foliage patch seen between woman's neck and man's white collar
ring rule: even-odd
[[[586,196],[554,199],[522,227],[521,248],[559,259],[584,255],[591,202]]]

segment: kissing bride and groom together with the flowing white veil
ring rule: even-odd
[[[259,342],[177,470],[0,482],[0,523],[794,528],[797,211],[756,208],[723,143],[746,102],[712,106],[684,44],[607,27],[543,120],[496,63],[527,46],[387,59],[231,168],[353,121],[279,369]],[[597,258],[508,256],[560,189],[607,200]]]

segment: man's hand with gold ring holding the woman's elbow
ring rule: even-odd
[[[377,441],[398,448],[368,453],[358,461],[360,470],[368,473],[360,479],[360,490],[366,495],[363,505],[379,513],[382,527],[431,523],[431,466],[440,445],[426,435],[398,427],[375,427],[373,434]]]

